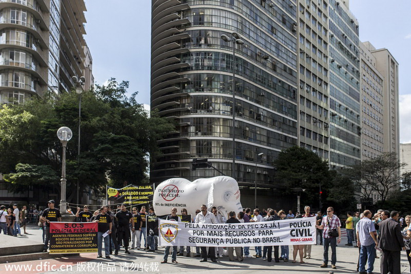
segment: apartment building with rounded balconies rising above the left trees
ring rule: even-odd
[[[1,103],[23,103],[47,90],[67,92],[71,77],[87,72],[86,54],[92,61],[83,38],[84,11],[83,0],[0,2]]]

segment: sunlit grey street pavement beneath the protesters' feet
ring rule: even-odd
[[[42,230],[36,226],[29,226],[27,229],[28,235],[22,236],[32,241],[42,242]],[[97,259],[96,253],[82,253],[80,255],[63,257],[60,259],[47,259],[38,261],[28,261],[13,264],[0,264],[0,273],[261,273],[274,270],[277,274],[293,274],[293,273],[318,273],[328,274],[333,273],[356,273],[358,261],[358,248],[345,246],[347,239],[343,238],[341,244],[337,247],[337,269],[331,269],[329,262],[328,268],[320,268],[323,260],[323,246],[313,245],[311,251],[311,259],[304,259],[305,263],[297,263],[292,261],[292,246],[290,246],[290,261],[279,263],[263,261],[261,258],[245,258],[243,262],[230,262],[228,257],[217,259],[218,263],[206,262],[200,263],[201,258],[186,258],[177,257],[178,264],[169,263],[160,264],[163,258],[164,249],[159,248],[156,252],[145,252],[143,250],[130,250],[132,253],[124,254],[124,249],[120,251],[120,255],[111,255],[111,259]],[[195,250],[195,249],[194,249]],[[24,250],[22,250],[24,252]],[[281,252],[281,250],[280,250]],[[378,251],[377,251],[378,253]],[[254,249],[250,248],[250,254],[254,254]],[[104,251],[103,251],[104,255]],[[329,258],[331,258],[331,249],[329,250]],[[26,270],[6,270],[6,265],[22,265],[26,266]],[[31,269],[29,267],[31,266]],[[60,267],[62,267],[60,269]],[[374,263],[373,273],[380,273],[380,259],[376,259]],[[42,269],[40,269],[42,268]],[[37,269],[37,270],[36,270]],[[58,269],[56,271],[50,271]],[[410,273],[409,265],[405,251],[401,252],[401,271],[402,273]]]

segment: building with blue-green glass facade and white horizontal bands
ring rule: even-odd
[[[348,1],[329,0],[330,167],[361,160],[360,40]]]

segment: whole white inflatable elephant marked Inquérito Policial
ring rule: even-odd
[[[207,205],[209,211],[216,207],[226,218],[230,211],[242,211],[237,181],[228,176],[195,181],[173,178],[163,181],[154,191],[153,205],[157,215],[170,214],[175,207],[177,214],[185,208],[194,217],[202,204]]]

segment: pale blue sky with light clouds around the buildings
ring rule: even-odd
[[[150,0],[85,0],[85,39],[98,84],[110,77],[130,82],[129,92],[150,104]],[[401,142],[411,142],[411,1],[351,0],[360,40],[387,48],[399,63]]]

